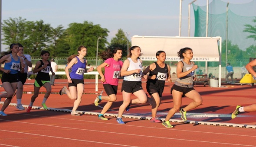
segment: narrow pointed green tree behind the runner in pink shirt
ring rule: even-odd
[[[125,35],[125,32],[122,29],[118,29],[115,37],[111,39],[108,49],[113,50],[116,47],[123,49],[123,57],[127,56],[127,41],[128,38]],[[131,46],[131,42],[129,42],[129,46]]]

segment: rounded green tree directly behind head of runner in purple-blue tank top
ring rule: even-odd
[[[67,42],[70,46],[69,54],[77,54],[77,48],[84,45],[87,47],[88,56],[96,57],[98,37],[101,37],[98,42],[98,50],[101,51],[105,49],[108,32],[108,29],[103,29],[100,25],[93,25],[88,21],[69,24],[69,28],[66,29]]]

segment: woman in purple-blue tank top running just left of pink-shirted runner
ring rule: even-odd
[[[85,55],[87,54],[87,48],[85,46],[79,46],[77,49],[78,54],[71,55],[68,58],[68,65],[65,68],[66,76],[68,78],[69,89],[64,86],[59,94],[62,95],[64,93],[69,96],[70,99],[75,100],[74,107],[72,109],[71,115],[80,116],[76,109],[80,105],[82,101],[82,94],[84,92],[84,73],[93,71],[93,67],[89,70],[86,70],[87,60],[85,59]],[[69,74],[69,69],[71,68],[71,73]]]

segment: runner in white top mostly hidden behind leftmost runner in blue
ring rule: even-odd
[[[17,92],[16,92],[16,99],[17,99],[16,109],[24,110],[25,108],[21,104],[21,98],[23,95],[23,85],[26,82],[28,67],[32,67],[32,62],[31,62],[31,56],[29,54],[23,54],[24,52],[23,46],[20,43],[17,43],[17,44],[19,45],[18,56],[23,58],[25,67],[24,67],[23,73],[18,71],[19,82],[17,85]]]

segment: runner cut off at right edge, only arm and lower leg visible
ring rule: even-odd
[[[253,60],[249,62],[245,67],[249,71],[250,74],[252,74],[253,78],[256,80],[256,72],[253,70],[253,67],[256,66],[256,60]],[[241,112],[253,112],[256,111],[256,104],[242,106],[237,105],[236,110],[232,113],[231,118],[236,118],[238,114]]]

